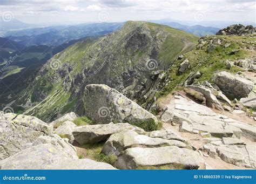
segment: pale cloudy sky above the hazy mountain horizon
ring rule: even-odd
[[[0,15],[25,23],[176,19],[255,23],[255,0],[0,0]]]

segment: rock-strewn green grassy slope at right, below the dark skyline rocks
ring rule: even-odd
[[[177,71],[182,60],[177,60],[173,66],[170,67],[166,75],[169,75],[171,82],[165,86],[160,92],[157,93],[157,98],[165,97],[166,94],[172,92],[174,87],[182,83],[190,74],[190,72],[200,71],[202,73],[201,78],[194,81],[210,80],[213,73],[217,70],[226,70],[232,73],[241,70],[239,67],[232,67],[227,70],[224,62],[221,60],[237,60],[252,56],[252,52],[248,51],[246,47],[252,46],[252,43],[256,42],[254,37],[244,37],[244,36],[210,36],[208,39],[213,37],[224,38],[225,40],[218,45],[213,53],[207,53],[207,44],[203,46],[202,50],[192,50],[184,54],[184,56],[190,61],[191,69],[187,70],[182,75],[178,75]],[[231,43],[229,47],[224,49],[225,43]],[[230,54],[232,50],[238,50],[235,54]]]

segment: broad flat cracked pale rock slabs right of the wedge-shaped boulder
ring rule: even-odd
[[[174,96],[174,98],[167,106],[173,112],[172,123],[180,124],[180,132],[200,131],[210,133],[213,137],[240,138],[244,136],[255,140],[255,126],[217,114],[210,108],[184,97]]]

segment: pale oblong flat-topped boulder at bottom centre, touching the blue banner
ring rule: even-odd
[[[187,148],[165,146],[157,148],[128,148],[118,157],[117,168],[138,169],[165,167],[198,169],[204,160],[199,153]]]

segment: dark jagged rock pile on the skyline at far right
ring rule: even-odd
[[[228,26],[227,28],[219,30],[216,35],[236,35],[236,36],[245,36],[245,35],[254,35],[256,32],[256,28],[252,25],[241,25],[241,24],[234,24]]]

